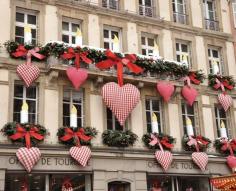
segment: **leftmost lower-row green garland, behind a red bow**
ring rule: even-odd
[[[11,136],[14,135],[15,133],[17,133],[17,124],[16,122],[9,122],[7,124],[5,124],[3,126],[3,128],[1,129],[1,132],[5,135],[5,136]],[[32,127],[36,127],[38,129],[37,133],[45,136],[47,134],[47,130],[45,129],[45,127],[41,126],[41,125],[35,125],[35,124],[29,124],[29,123],[24,123],[24,124],[19,124],[23,129],[25,129],[26,131],[29,131]],[[19,142],[19,143],[23,143],[25,145],[25,138],[19,138],[17,140],[12,140],[12,142]],[[30,141],[32,146],[36,146],[40,141],[35,139],[34,137],[30,137]]]

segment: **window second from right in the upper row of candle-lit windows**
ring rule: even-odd
[[[191,68],[191,51],[190,45],[186,42],[177,42],[176,43],[176,60],[186,64]]]

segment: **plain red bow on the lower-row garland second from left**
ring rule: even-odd
[[[62,141],[68,141],[72,138],[75,138],[76,139],[76,144],[79,145],[80,144],[79,139],[82,139],[84,141],[91,140],[90,136],[87,136],[87,135],[84,134],[84,129],[83,128],[80,128],[80,129],[78,129],[77,132],[74,132],[71,128],[67,127],[67,128],[65,128],[65,133],[66,133],[66,135],[64,135],[63,137],[60,138]]]

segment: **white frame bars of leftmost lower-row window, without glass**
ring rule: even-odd
[[[23,97],[22,98],[15,96],[15,86],[17,86],[17,85],[23,87],[23,93],[22,93]],[[27,103],[27,101],[35,101],[35,113],[28,112],[28,115],[29,114],[34,114],[35,115],[35,121],[30,122],[30,117],[29,117],[28,122],[33,123],[33,124],[37,124],[39,122],[39,86],[37,84],[33,84],[33,85],[31,85],[31,87],[35,87],[35,89],[36,89],[36,93],[35,93],[36,98],[35,99],[26,97],[27,87],[24,84],[22,84],[21,82],[15,82],[14,83],[14,86],[13,86],[13,107],[12,107],[13,108],[13,110],[12,110],[12,119],[13,119],[13,121],[14,121],[14,114],[15,113],[20,113],[20,112],[15,112],[14,111],[14,102],[15,102],[15,99],[17,99],[17,100],[22,100],[22,103],[24,101],[26,101],[26,103]],[[20,123],[20,121],[18,121],[18,122]]]

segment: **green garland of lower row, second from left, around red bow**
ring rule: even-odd
[[[58,129],[57,131],[57,136],[58,136],[58,140],[61,144],[67,145],[67,146],[74,146],[76,145],[76,140],[74,137],[72,137],[71,139],[69,139],[68,141],[62,141],[60,138],[65,136],[66,132],[65,129],[66,128],[70,128],[72,131],[77,132],[80,128],[84,129],[84,134],[87,136],[90,136],[92,138],[96,137],[97,135],[97,130],[95,128],[92,127],[61,127]],[[84,141],[80,139],[80,144],[81,145],[91,145],[91,140],[90,141]]]

